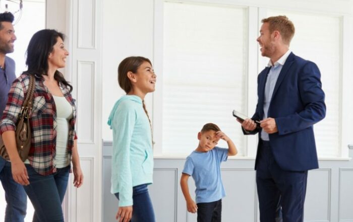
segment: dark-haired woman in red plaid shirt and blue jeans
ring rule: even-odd
[[[24,185],[35,214],[33,221],[64,221],[61,204],[73,163],[74,185],[83,183],[77,136],[76,106],[72,86],[57,69],[65,67],[69,55],[64,35],[55,30],[38,31],[27,48],[28,70],[12,84],[0,133],[11,160],[14,180]],[[35,77],[31,149],[23,163],[16,149],[15,130],[26,97],[29,76]]]

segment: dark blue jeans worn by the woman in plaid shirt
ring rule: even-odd
[[[70,166],[51,175],[38,174],[26,164],[29,185],[23,186],[34,207],[33,222],[64,222],[62,202],[68,187]]]

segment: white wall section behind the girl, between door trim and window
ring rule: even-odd
[[[115,101],[124,95],[117,83],[117,66],[128,56],[140,55],[153,63],[153,1],[103,1],[102,78],[103,115],[102,137],[111,140],[106,122]],[[154,67],[158,75],[158,67]],[[146,96],[151,112],[151,95]]]

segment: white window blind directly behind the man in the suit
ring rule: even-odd
[[[341,147],[341,19],[274,10],[267,11],[267,15],[286,15],[296,27],[290,49],[318,65],[327,110],[325,119],[314,125],[317,152],[319,157],[338,157]]]

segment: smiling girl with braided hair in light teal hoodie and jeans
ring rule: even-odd
[[[155,90],[156,75],[148,58],[125,58],[118,67],[118,82],[126,96],[116,101],[108,125],[113,130],[111,190],[119,199],[120,222],[154,222],[147,185],[152,184],[151,121],[144,98]]]

